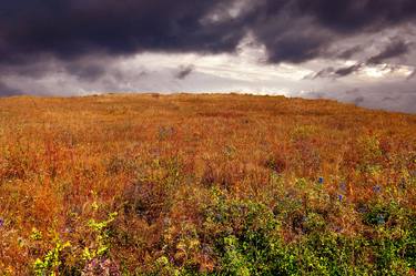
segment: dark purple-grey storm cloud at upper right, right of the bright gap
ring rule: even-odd
[[[263,2],[263,10],[256,12],[254,33],[266,45],[272,62],[334,58],[327,48],[335,40],[414,22],[416,14],[414,0]]]

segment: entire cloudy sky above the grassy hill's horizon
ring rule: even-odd
[[[241,92],[416,113],[415,0],[1,0],[0,95]]]

